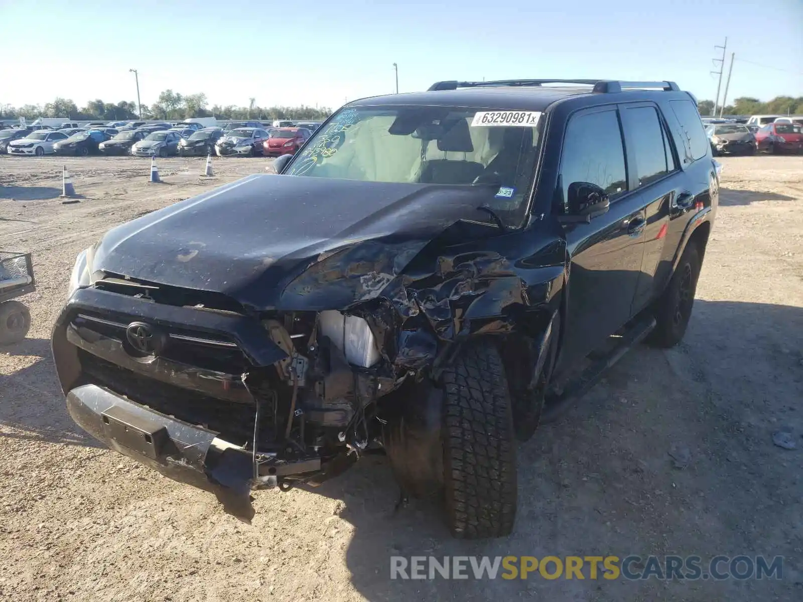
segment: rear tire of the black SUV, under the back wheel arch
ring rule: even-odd
[[[656,304],[656,324],[650,334],[650,344],[662,348],[674,347],[686,334],[700,274],[699,257],[695,243],[687,243],[675,274]]]

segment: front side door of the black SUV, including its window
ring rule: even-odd
[[[564,198],[575,181],[605,189],[610,208],[589,223],[565,226],[572,258],[565,361],[587,355],[630,319],[642,266],[644,207],[641,197],[629,193],[615,106],[579,112],[569,120],[560,158]]]

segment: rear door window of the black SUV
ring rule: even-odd
[[[663,127],[655,108],[626,108],[623,117],[630,136],[628,143],[633,144],[633,148],[628,147],[627,155],[630,167],[636,166],[638,185],[646,186],[674,169],[674,161],[670,161],[672,153],[668,157],[666,154]]]

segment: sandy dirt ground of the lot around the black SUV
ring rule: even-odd
[[[49,349],[75,255],[263,159],[0,156],[0,247],[34,253],[27,340],[0,349],[0,600],[803,600],[803,157],[727,157],[686,339],[640,347],[520,445],[507,539],[394,513],[386,462],[255,495],[251,526],[67,416]],[[61,165],[84,199],[62,205]],[[798,207],[795,203],[801,203]],[[797,449],[772,433],[790,429]],[[670,452],[688,454],[685,468]],[[783,555],[782,580],[389,580],[390,555]]]

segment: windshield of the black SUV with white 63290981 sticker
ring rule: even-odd
[[[463,107],[344,108],[285,173],[406,184],[486,185],[488,205],[520,220],[540,113]]]

